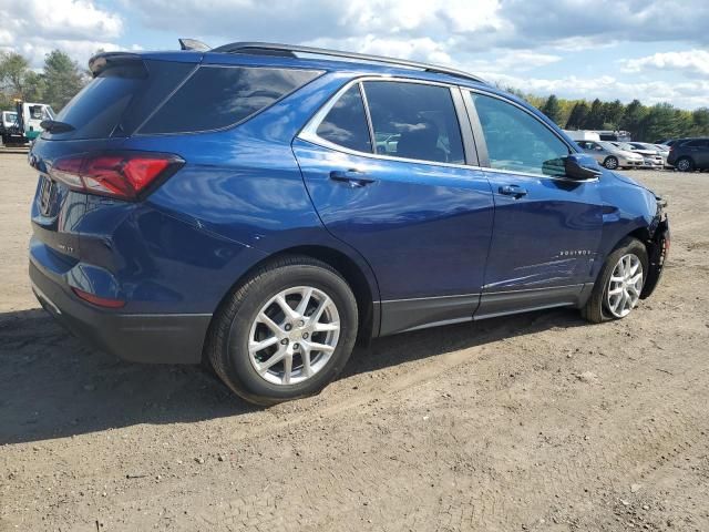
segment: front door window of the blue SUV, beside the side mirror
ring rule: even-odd
[[[565,174],[561,158],[569,154],[569,149],[540,120],[497,98],[469,94],[477,111],[492,168]]]

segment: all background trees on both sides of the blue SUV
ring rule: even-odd
[[[41,71],[30,69],[29,61],[14,52],[0,52],[0,110],[14,109],[14,99],[49,103],[59,112],[84,86],[91,75],[66,53],[47,54]],[[620,100],[565,100],[510,92],[525,99],[566,130],[624,130],[634,140],[709,136],[709,108],[695,111],[669,103],[644,105],[639,100],[624,104]]]

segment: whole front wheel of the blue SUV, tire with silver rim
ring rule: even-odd
[[[582,309],[588,321],[599,324],[629,315],[640,300],[648,270],[647,250],[636,238],[626,238],[608,258]]]

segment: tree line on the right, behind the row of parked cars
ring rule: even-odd
[[[552,94],[541,98],[513,91],[565,130],[628,131],[636,141],[709,136],[709,108],[695,111],[669,103],[644,105],[639,100],[624,104],[620,100],[564,100]]]

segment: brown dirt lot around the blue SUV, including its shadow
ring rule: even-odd
[[[709,530],[709,175],[630,318],[554,310],[380,339],[317,398],[84,347],[31,295],[35,177],[0,154],[0,530]]]

